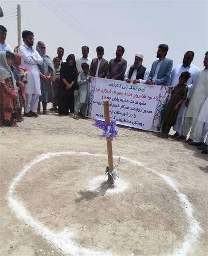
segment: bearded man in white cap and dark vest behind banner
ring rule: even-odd
[[[141,52],[135,54],[134,64],[124,76],[124,81],[127,83],[133,82],[133,84],[146,84],[149,72],[146,67],[142,66],[143,58],[144,56]]]

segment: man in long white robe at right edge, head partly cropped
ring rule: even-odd
[[[186,140],[186,136],[190,131],[190,137],[186,141],[190,143],[193,141],[194,129],[196,127],[197,118],[199,112],[204,104],[206,98],[208,97],[208,62],[207,62],[208,52],[205,53],[204,67],[197,76],[193,84],[193,89],[191,90],[190,99],[187,99],[188,108],[185,113],[185,119],[182,125],[181,136],[177,137],[176,140]]]

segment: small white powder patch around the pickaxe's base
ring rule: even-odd
[[[92,180],[88,180],[88,189],[92,192],[99,192],[99,186],[104,181],[104,175],[94,177]],[[129,186],[129,182],[123,180],[122,178],[116,178],[115,186],[113,188],[108,188],[106,194],[118,194],[124,192]]]

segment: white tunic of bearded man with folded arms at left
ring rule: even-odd
[[[43,59],[35,49],[29,48],[26,44],[19,47],[18,53],[22,56],[21,67],[26,67],[29,70],[25,92],[41,95],[38,64],[43,65]]]

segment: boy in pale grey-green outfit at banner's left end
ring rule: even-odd
[[[87,113],[87,105],[89,102],[89,65],[84,62],[81,64],[83,72],[78,76],[77,83],[79,86],[79,95],[75,105],[74,119],[79,119],[78,113],[81,110],[82,118],[85,118]]]

